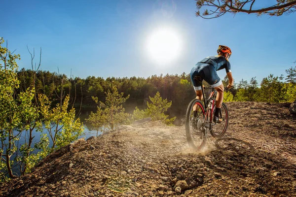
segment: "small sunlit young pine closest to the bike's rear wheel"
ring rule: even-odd
[[[160,120],[167,125],[172,125],[176,117],[168,118],[168,115],[165,115],[164,112],[171,107],[172,101],[168,102],[167,99],[162,99],[159,92],[152,98],[149,97],[151,103],[147,102],[147,108],[145,110],[139,110],[138,107],[134,110],[132,119],[138,120],[150,117],[153,121]]]

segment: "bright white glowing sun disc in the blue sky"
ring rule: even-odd
[[[165,65],[176,61],[181,53],[181,38],[173,29],[159,29],[148,37],[148,56],[152,61]]]

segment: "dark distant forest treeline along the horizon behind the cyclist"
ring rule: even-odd
[[[264,77],[259,83],[256,77],[248,82],[241,79],[235,83],[234,88],[224,93],[224,101],[260,101],[260,102],[293,102],[296,99],[296,66],[283,70],[286,77],[272,74]],[[17,72],[20,80],[20,91],[26,90],[34,80],[32,69],[21,69]],[[181,75],[152,75],[143,77],[102,77],[88,76],[85,79],[79,77],[67,77],[65,74],[38,70],[36,78],[37,94],[45,94],[51,100],[59,100],[61,91],[70,94],[70,103],[74,105],[76,112],[83,115],[97,109],[92,97],[97,97],[104,102],[106,94],[114,82],[119,93],[129,95],[129,99],[123,103],[127,113],[133,113],[135,107],[144,109],[147,107],[149,97],[157,92],[164,99],[172,101],[172,106],[166,112],[169,117],[177,117],[176,124],[180,124],[180,118],[185,115],[188,102],[194,98],[189,74]],[[227,77],[223,79],[224,86],[228,84]],[[206,86],[208,86],[205,83]],[[84,116],[87,118],[87,116]]]

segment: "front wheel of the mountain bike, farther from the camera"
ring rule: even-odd
[[[215,109],[216,109],[216,105],[214,106],[213,112],[215,111]],[[219,124],[213,123],[212,127],[210,128],[211,135],[216,138],[221,138],[225,134],[228,126],[228,110],[224,102],[222,102],[219,117],[222,118],[223,121]],[[211,113],[211,121],[213,120],[214,120],[214,113]]]

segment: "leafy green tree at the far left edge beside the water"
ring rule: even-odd
[[[0,44],[4,43],[3,38]],[[38,119],[38,109],[34,102],[35,88],[28,87],[18,95],[20,81],[17,78],[17,63],[19,55],[14,55],[6,47],[0,45],[0,179],[5,180],[6,173],[10,178],[14,177],[12,168],[19,165],[21,171],[28,171],[35,162],[28,161],[34,148],[31,147],[32,130],[41,128]],[[21,155],[18,154],[18,141],[22,137],[22,132],[30,130],[29,141],[20,148]],[[39,142],[41,145],[42,142]],[[42,144],[44,145],[44,144]],[[14,157],[12,157],[14,156]],[[37,157],[41,157],[39,154]],[[14,159],[12,159],[14,158]],[[24,169],[23,169],[24,167]]]

